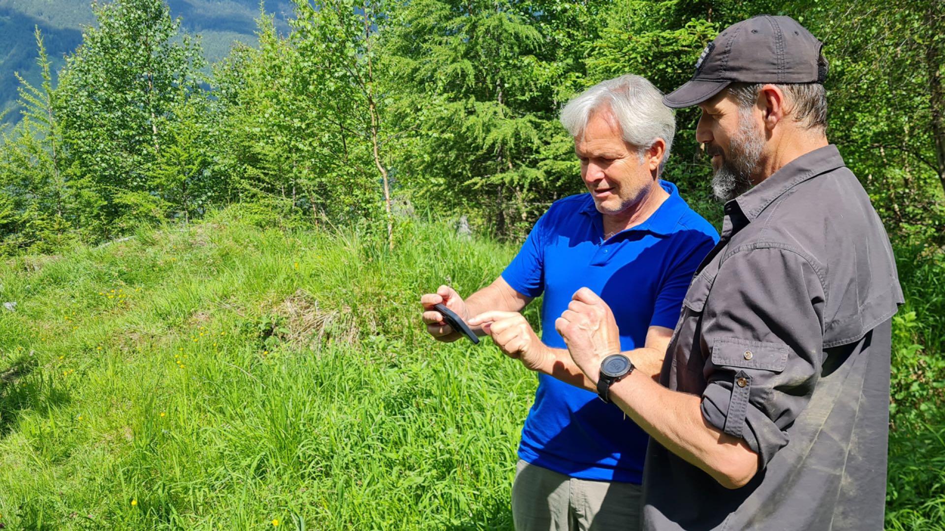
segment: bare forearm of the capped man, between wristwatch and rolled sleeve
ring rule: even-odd
[[[741,487],[758,471],[758,455],[743,439],[709,424],[696,395],[671,391],[634,370],[610,386],[610,400],[663,447],[724,487]]]

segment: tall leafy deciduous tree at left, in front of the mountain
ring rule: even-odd
[[[198,153],[207,135],[198,136],[193,117],[207,96],[198,43],[180,35],[161,0],[121,0],[94,12],[98,27],[66,59],[55,111],[69,177],[98,199],[86,215],[109,237],[129,206],[158,219],[196,208],[188,185],[203,176],[207,161]],[[193,151],[184,165],[203,167],[182,167],[180,149]]]

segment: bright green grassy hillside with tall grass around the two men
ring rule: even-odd
[[[488,340],[426,337],[418,298],[439,283],[469,293],[514,250],[418,224],[391,252],[383,238],[260,229],[230,212],[11,260],[0,522],[510,528],[535,379]],[[910,300],[936,300],[931,269],[906,274],[930,290]],[[928,308],[904,310],[936,318]],[[909,322],[897,321],[894,356]],[[941,529],[945,431],[903,423],[890,454],[888,528]]]

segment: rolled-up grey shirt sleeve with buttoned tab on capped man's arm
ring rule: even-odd
[[[719,267],[702,321],[702,414],[745,439],[765,467],[814,392],[821,367],[824,286],[791,248],[738,249]]]

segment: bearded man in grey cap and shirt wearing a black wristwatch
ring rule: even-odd
[[[696,140],[726,203],[662,385],[632,370],[590,290],[556,322],[602,398],[651,436],[644,529],[883,527],[902,290],[879,216],[827,141],[820,48],[789,17],[753,17],[663,98],[701,109]]]

